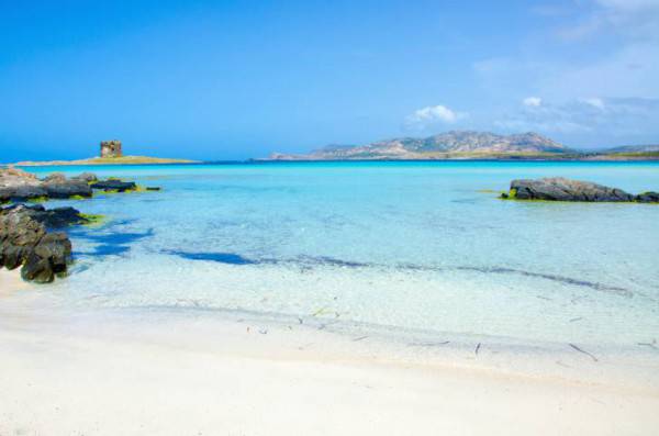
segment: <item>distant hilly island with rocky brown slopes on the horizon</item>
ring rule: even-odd
[[[654,160],[659,159],[659,145],[585,152],[566,147],[533,132],[499,135],[490,132],[450,131],[428,137],[401,137],[366,145],[327,145],[301,155],[273,153],[269,158],[259,160],[426,159]]]

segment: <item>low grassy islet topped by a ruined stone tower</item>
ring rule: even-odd
[[[149,156],[124,156],[121,141],[102,141],[100,146],[100,156],[76,160],[47,160],[32,161],[24,160],[13,165],[20,167],[45,167],[59,165],[145,165],[145,164],[196,164],[197,160],[171,159],[165,157]]]

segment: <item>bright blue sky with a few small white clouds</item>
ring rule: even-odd
[[[659,143],[659,0],[0,0],[0,161]]]

